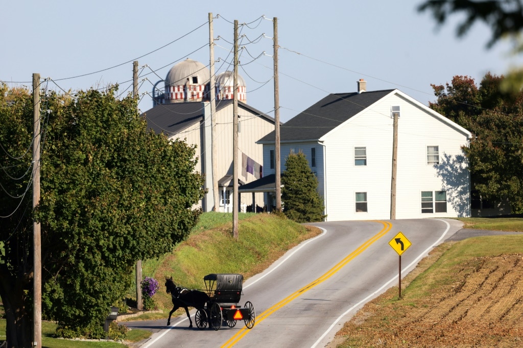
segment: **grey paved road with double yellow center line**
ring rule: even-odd
[[[484,234],[461,230],[452,219],[314,225],[325,233],[245,282],[241,304],[249,300],[256,307],[252,330],[243,329],[243,322],[219,331],[189,329],[185,316],[171,327],[165,319],[126,324],[154,332],[142,347],[323,347],[368,300],[397,286],[399,257],[388,243],[399,231],[412,242],[402,255],[402,276],[438,243]]]

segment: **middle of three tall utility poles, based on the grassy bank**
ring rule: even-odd
[[[238,20],[234,20],[234,93],[233,93],[233,126],[232,126],[232,180],[233,180],[233,203],[232,203],[232,234],[238,239]]]

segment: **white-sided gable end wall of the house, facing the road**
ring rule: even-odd
[[[470,216],[469,173],[464,164],[456,165],[462,159],[460,146],[467,144],[467,136],[394,94],[325,136],[327,220],[390,218],[391,106],[401,108],[396,218]],[[427,145],[439,146],[439,170],[427,165]],[[357,146],[366,147],[367,166],[354,165]],[[447,213],[422,214],[421,191],[447,191]],[[367,192],[368,212],[355,211],[356,192]]]

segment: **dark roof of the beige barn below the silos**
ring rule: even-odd
[[[216,103],[216,111],[231,105],[232,102],[232,100],[220,100]],[[246,103],[238,101],[238,107],[249,110],[273,124],[275,122],[274,118],[248,106]],[[203,121],[203,115],[204,107],[200,101],[158,104],[142,113],[142,117],[147,121],[147,129],[152,129],[156,134],[163,132],[167,136],[177,134],[187,127]]]

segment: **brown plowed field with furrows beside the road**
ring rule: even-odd
[[[329,347],[523,347],[522,258],[470,259],[427,296],[398,299],[391,288],[358,311]],[[417,274],[431,264],[423,263]]]

